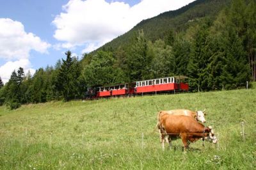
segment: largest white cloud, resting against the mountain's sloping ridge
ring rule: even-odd
[[[124,2],[70,0],[63,6],[64,12],[52,21],[56,26],[54,38],[72,47],[85,45],[83,52],[89,52],[129,31],[143,19],[176,10],[192,1],[141,0],[129,6]]]

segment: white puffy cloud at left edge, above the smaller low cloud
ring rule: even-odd
[[[28,59],[30,50],[45,53],[50,46],[33,33],[26,33],[21,22],[0,19],[0,59]]]

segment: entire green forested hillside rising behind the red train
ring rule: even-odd
[[[35,75],[14,70],[0,104],[82,98],[88,86],[172,75],[189,77],[191,91],[235,89],[255,81],[255,0],[200,0],[143,20],[79,61],[71,52]]]

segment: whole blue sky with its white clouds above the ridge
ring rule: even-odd
[[[148,19],[193,0],[0,0],[0,77],[81,58]]]

